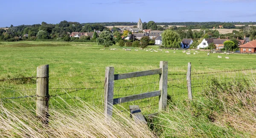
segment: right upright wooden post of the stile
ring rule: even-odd
[[[159,96],[159,110],[166,110],[167,105],[167,82],[168,82],[168,62],[160,61],[160,68],[162,68],[162,74],[160,74],[159,90],[161,90],[161,96]]]

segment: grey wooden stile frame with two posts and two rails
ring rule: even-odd
[[[140,76],[160,75],[159,90],[148,93],[142,93],[132,96],[120,97],[113,99],[114,95],[114,81],[120,79],[128,79]],[[104,113],[105,118],[111,117],[113,113],[113,105],[121,104],[129,101],[135,101],[154,96],[159,96],[159,110],[165,110],[167,105],[167,82],[168,82],[168,62],[160,61],[160,68],[155,70],[146,70],[124,74],[114,74],[113,67],[107,67],[105,71],[105,100]]]

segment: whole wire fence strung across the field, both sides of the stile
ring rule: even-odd
[[[187,99],[187,80],[186,73],[168,74],[168,95],[171,101],[180,101]],[[192,93],[194,99],[200,99],[204,93],[212,86],[212,80],[218,80],[225,85],[228,83],[250,83],[254,81],[256,68],[245,70],[227,70],[207,73],[191,73]],[[37,77],[23,77],[14,79],[2,79],[0,82],[35,79]],[[127,84],[127,83],[126,83]],[[122,98],[146,92],[159,90],[159,82],[153,81],[140,85],[128,85],[114,87],[114,99]],[[36,89],[24,90],[1,90],[0,101],[8,107],[18,107],[24,105],[28,108],[35,109]],[[82,106],[85,101],[96,107],[104,107],[104,87],[90,88],[49,88],[49,107],[50,108],[68,108],[67,105],[73,104]],[[153,113],[158,109],[159,98],[152,97],[115,105],[121,111],[129,110],[129,105],[139,105],[143,113]],[[19,105],[17,105],[19,104]]]

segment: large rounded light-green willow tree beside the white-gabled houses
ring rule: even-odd
[[[180,36],[175,31],[166,30],[162,34],[162,41],[164,47],[167,48],[180,48]]]

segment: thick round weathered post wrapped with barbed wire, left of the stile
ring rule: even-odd
[[[41,65],[37,68],[36,81],[36,116],[41,118],[44,124],[49,120],[49,65]]]

